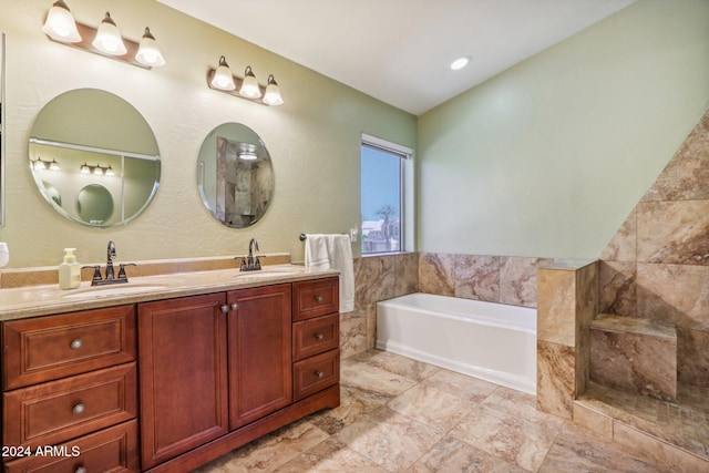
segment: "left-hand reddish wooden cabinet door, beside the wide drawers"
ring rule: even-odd
[[[138,305],[143,469],[228,432],[224,294]]]

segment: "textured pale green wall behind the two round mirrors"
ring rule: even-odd
[[[259,49],[152,0],[71,0],[78,21],[96,27],[111,11],[125,38],[151,31],[167,65],[153,71],[50,41],[41,30],[52,1],[3,1],[0,31],[8,34],[7,226],[10,266],[61,261],[76,247],[82,263],[105,260],[115,240],[119,260],[244,254],[251,237],[265,253],[302,259],[306,233],[345,233],[359,220],[360,136],[368,133],[413,147],[417,119],[339,82]],[[225,55],[234,73],[250,65],[261,83],[273,73],[285,104],[266,107],[206,85],[208,68]],[[61,217],[37,191],[28,164],[34,117],[54,96],[73,89],[112,92],[135,106],[160,146],[162,181],[153,204],[134,222],[111,229]],[[244,123],[266,143],[276,191],[266,216],[230,229],[202,205],[196,162],[217,125]],[[359,251],[359,245],[353,245]]]

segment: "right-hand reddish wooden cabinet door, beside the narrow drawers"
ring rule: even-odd
[[[290,285],[232,291],[228,302],[234,430],[292,401]]]

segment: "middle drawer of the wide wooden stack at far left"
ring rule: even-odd
[[[134,419],[135,362],[3,394],[6,445],[51,445]]]

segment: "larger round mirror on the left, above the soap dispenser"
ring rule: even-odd
[[[145,119],[120,96],[95,89],[65,92],[40,111],[29,161],[44,199],[94,227],[129,223],[160,184],[160,151]]]

